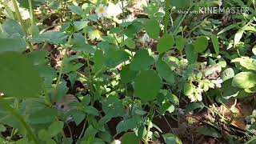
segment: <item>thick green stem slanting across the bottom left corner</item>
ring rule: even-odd
[[[35,144],[38,144],[38,138],[35,136],[33,130],[31,129],[31,127],[26,123],[26,121],[24,120],[24,118],[17,113],[16,110],[14,110],[14,108],[10,107],[9,104],[0,97],[0,105],[6,109],[6,111],[8,111],[11,115],[14,116],[14,118],[16,118],[19,122],[22,123],[22,126],[25,127],[28,135],[32,138],[32,141],[34,141]]]

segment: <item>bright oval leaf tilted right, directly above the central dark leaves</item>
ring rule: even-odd
[[[174,46],[174,37],[171,34],[163,36],[158,42],[158,52],[165,53]]]

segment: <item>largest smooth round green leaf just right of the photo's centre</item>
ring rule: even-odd
[[[135,79],[134,93],[144,102],[153,101],[162,86],[162,80],[154,70],[142,71]]]

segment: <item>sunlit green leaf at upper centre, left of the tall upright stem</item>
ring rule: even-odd
[[[160,26],[157,20],[150,19],[145,23],[146,33],[150,36],[150,38],[157,39],[160,34]]]

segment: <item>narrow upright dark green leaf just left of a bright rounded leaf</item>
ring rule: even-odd
[[[198,54],[194,49],[194,46],[189,44],[185,48],[186,58],[190,62],[190,64],[194,64],[198,60]]]

